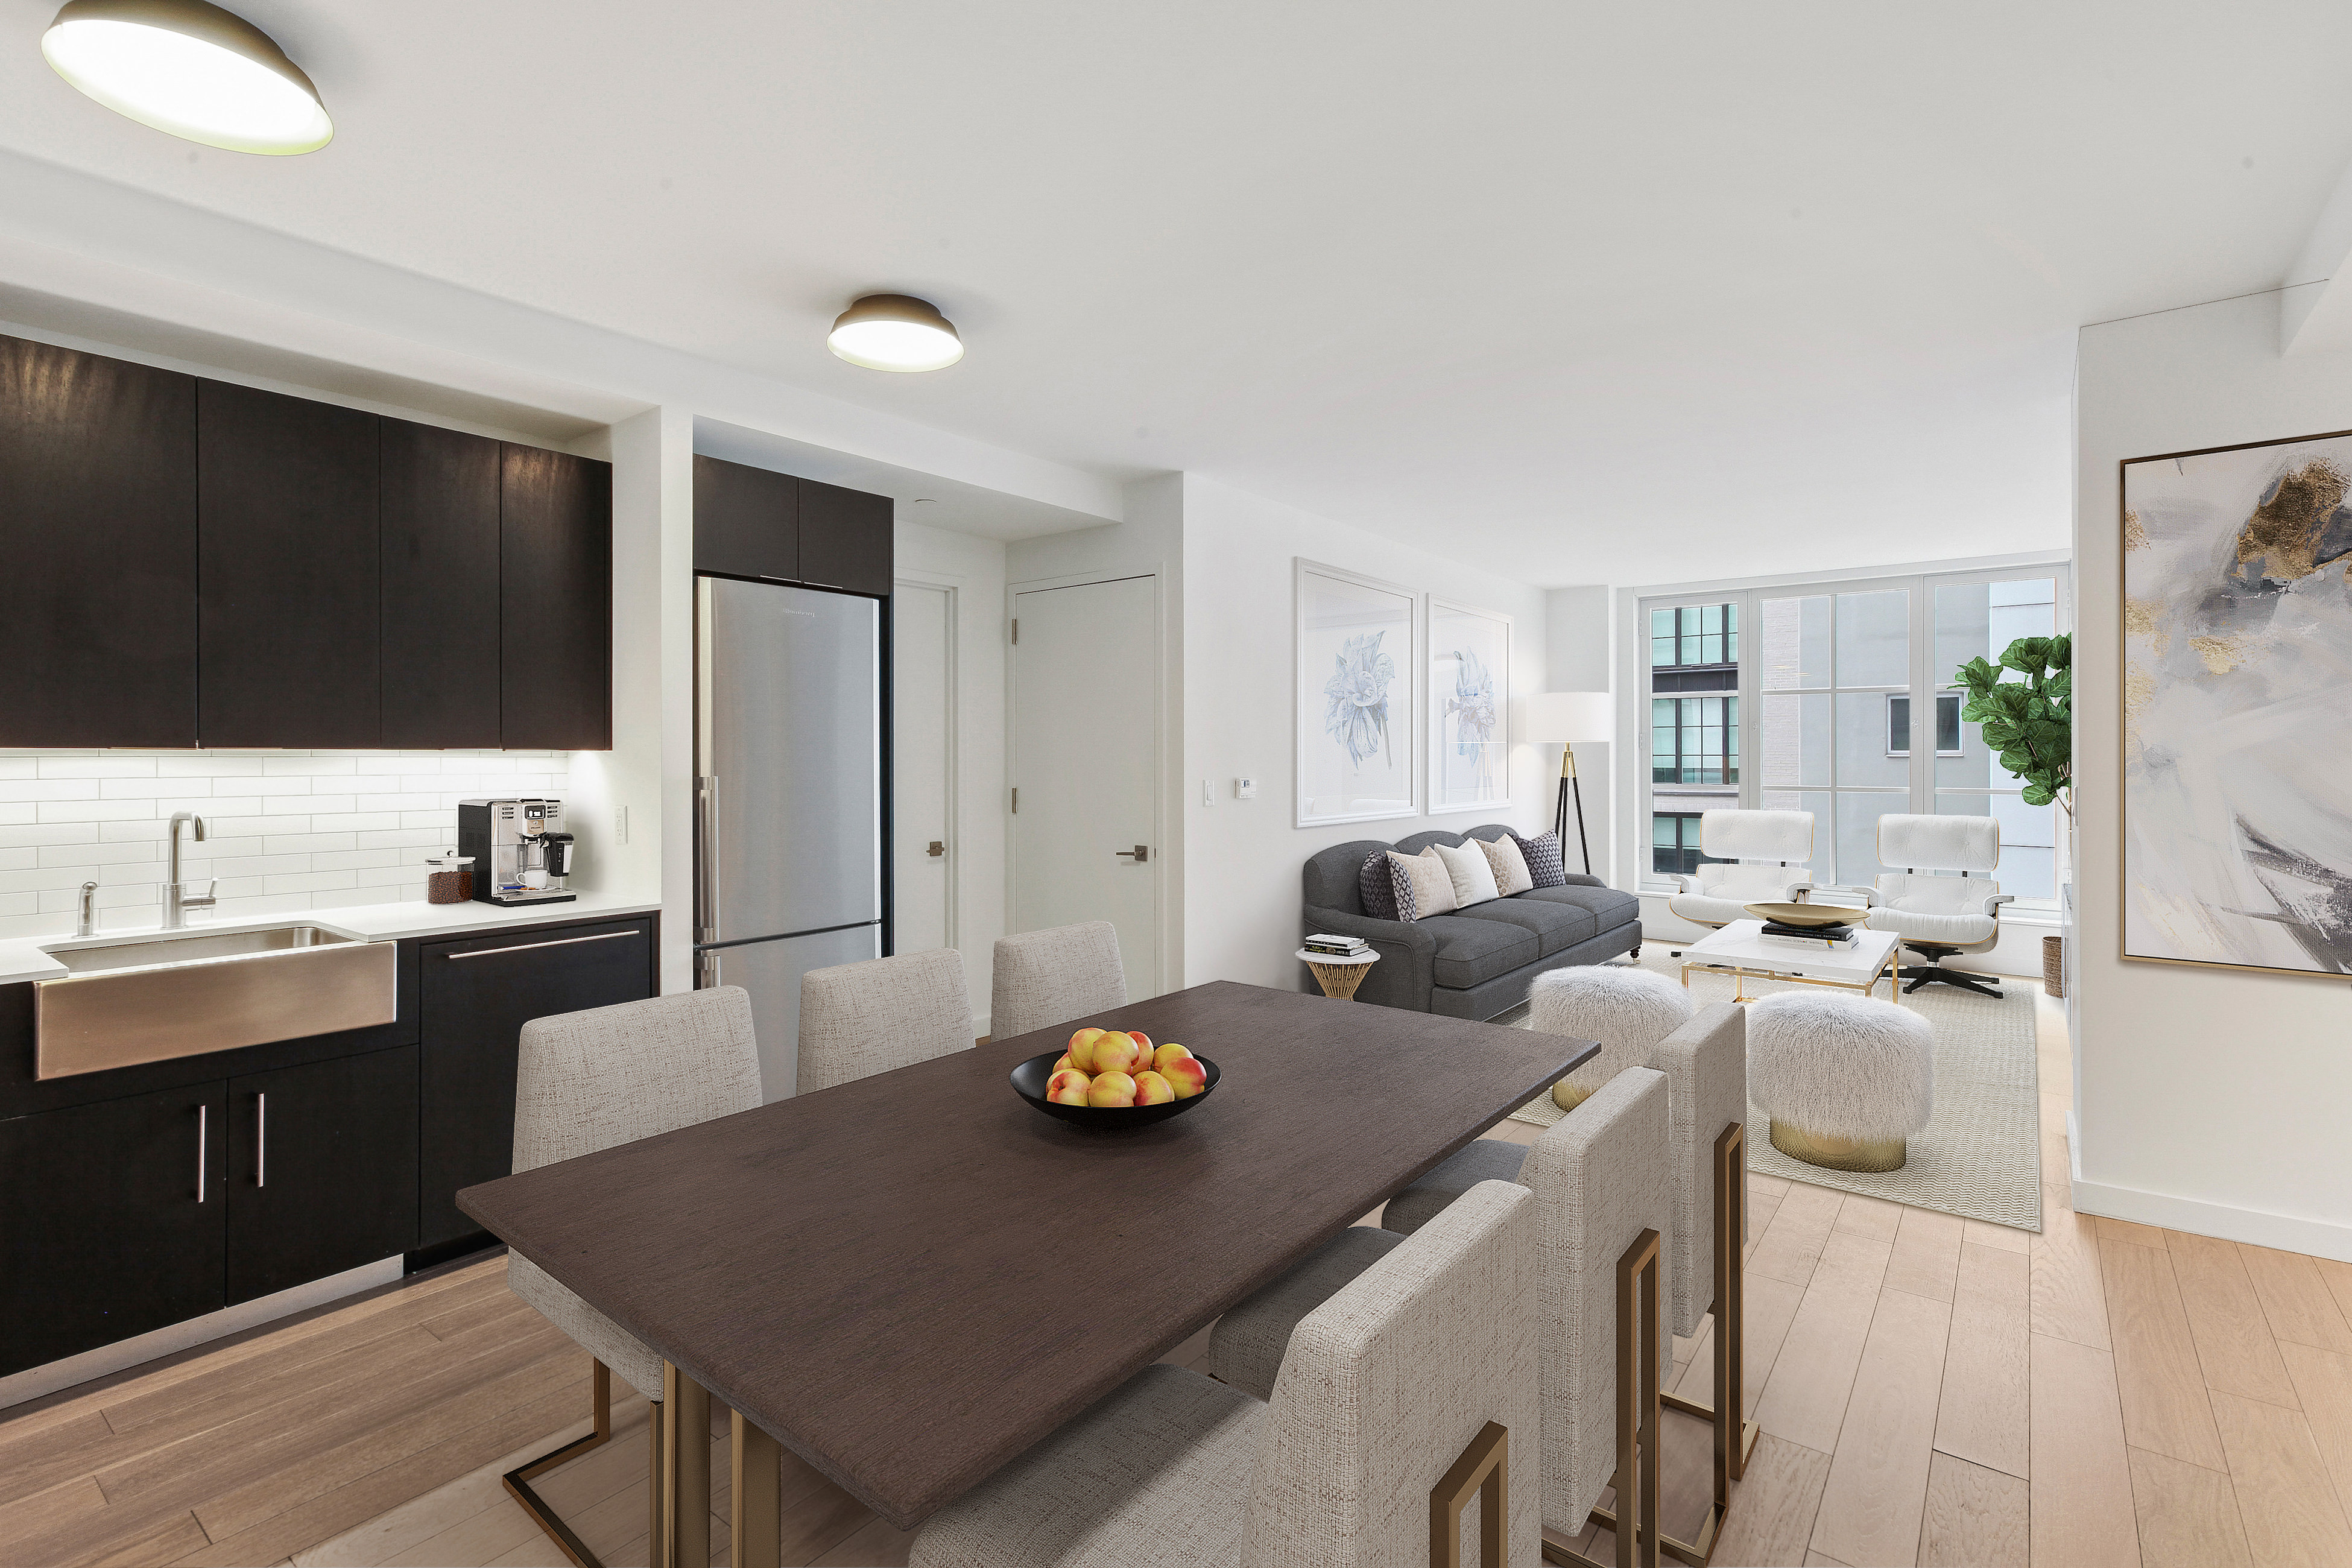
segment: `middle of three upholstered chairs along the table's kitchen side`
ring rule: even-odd
[[[795,1093],[969,1051],[971,994],[955,947],[835,964],[800,976]]]

